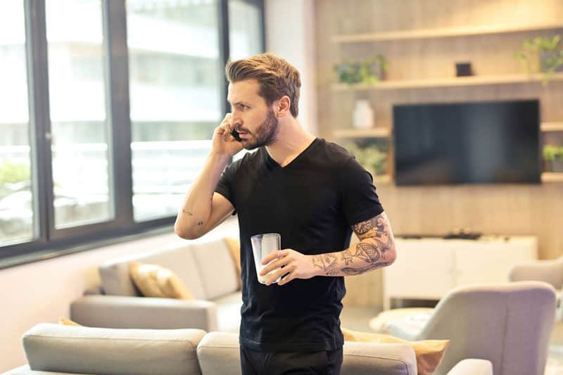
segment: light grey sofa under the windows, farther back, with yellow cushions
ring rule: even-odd
[[[171,269],[196,300],[142,297],[129,277],[132,261]],[[99,266],[99,274],[101,285],[70,305],[70,319],[84,326],[239,331],[239,276],[222,239],[186,241],[182,246],[108,260]]]

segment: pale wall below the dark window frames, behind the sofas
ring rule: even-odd
[[[239,236],[236,218],[227,220],[196,241]],[[121,255],[185,243],[170,234],[147,237],[97,250],[65,255],[27,265],[0,269],[0,373],[25,364],[21,337],[42,322],[56,323],[69,316],[72,300],[99,284],[96,265]]]

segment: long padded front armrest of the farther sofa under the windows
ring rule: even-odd
[[[106,328],[217,330],[217,305],[207,300],[84,295],[70,305],[70,319]]]

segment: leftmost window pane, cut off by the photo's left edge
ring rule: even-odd
[[[33,238],[23,1],[0,2],[0,244]]]

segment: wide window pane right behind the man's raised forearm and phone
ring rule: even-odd
[[[127,1],[135,220],[175,215],[222,119],[217,1]]]

